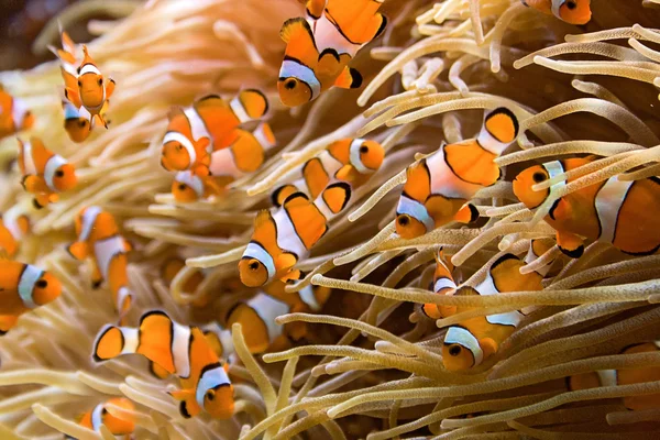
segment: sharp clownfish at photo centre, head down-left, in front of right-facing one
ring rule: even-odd
[[[337,188],[341,191],[340,186]],[[241,282],[248,287],[258,287],[274,279],[297,279],[299,274],[294,266],[309,254],[327,230],[326,217],[302,193],[290,195],[274,215],[260,211],[252,239],[239,262]]]

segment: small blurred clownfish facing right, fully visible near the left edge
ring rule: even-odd
[[[34,207],[41,209],[59,200],[57,193],[73,189],[78,183],[76,169],[59,154],[46,148],[38,138],[19,141],[19,168],[23,188],[33,194]]]

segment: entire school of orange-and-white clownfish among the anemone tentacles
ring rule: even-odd
[[[590,0],[525,0],[525,4],[572,23],[584,24],[591,18]],[[358,51],[377,37],[386,26],[378,13],[382,0],[342,2],[308,0],[307,18],[284,23],[280,36],[286,43],[277,88],[284,105],[296,107],[319,97],[329,88],[356,88],[360,73],[349,66]],[[52,48],[61,61],[64,79],[64,128],[74,142],[84,142],[97,127],[108,129],[106,119],[116,82],[101,74],[89,51],[76,58],[76,44],[61,29],[62,48]],[[161,152],[162,166],[175,173],[172,193],[178,202],[222,197],[227,186],[257,170],[276,140],[263,119],[268,101],[260,90],[244,89],[231,100],[207,96],[190,107],[174,108]],[[0,136],[28,130],[34,117],[19,99],[0,88]],[[250,129],[252,128],[252,129]],[[485,112],[481,132],[471,140],[443,144],[406,169],[406,184],[396,208],[396,232],[414,239],[457,221],[472,223],[479,210],[471,204],[482,188],[495,185],[502,172],[495,164],[504,150],[518,136],[518,121],[507,108]],[[18,165],[23,188],[34,196],[37,209],[57,202],[58,195],[77,183],[74,166],[50,151],[42,140],[19,139]],[[272,193],[272,209],[258,212],[254,231],[239,262],[241,282],[260,287],[252,299],[231,309],[228,327],[240,322],[249,328],[246,343],[253,353],[278,350],[288,341],[304,337],[298,323],[280,326],[275,318],[287,312],[319,311],[330,289],[308,286],[296,294],[285,292],[287,283],[304,275],[296,268],[328,231],[328,222],[342,212],[352,193],[366,183],[383,163],[384,148],[375,141],[344,139],[330,144],[307,161],[298,176],[282,182]],[[568,182],[554,177],[594,161],[595,156],[553,161],[531,166],[513,180],[516,197],[527,208],[541,206]],[[550,179],[552,185],[535,190]],[[559,198],[544,220],[557,230],[556,243],[570,257],[579,257],[585,241],[612,243],[631,255],[652,254],[660,248],[660,180],[606,182],[586,186]],[[76,260],[94,262],[92,287],[109,285],[118,315],[117,324],[107,324],[97,336],[92,356],[103,362],[120,355],[140,353],[150,361],[151,372],[165,378],[176,375],[180,389],[169,394],[177,399],[182,415],[194,417],[205,410],[215,418],[233,414],[233,388],[228,360],[234,348],[231,331],[217,323],[183,326],[165,312],[145,312],[136,327],[128,327],[125,315],[133,295],[127,275],[131,244],[120,234],[112,216],[99,207],[84,208],[75,219],[78,240],[67,251]],[[62,285],[52,274],[31,264],[13,261],[21,240],[30,233],[30,220],[18,207],[7,211],[0,223],[3,271],[0,274],[0,331],[16,324],[20,315],[46,305],[62,294]],[[430,289],[438,295],[499,295],[508,292],[541,290],[542,279],[552,271],[553,261],[534,270],[525,266],[537,261],[554,242],[531,240],[524,258],[507,253],[488,268],[475,287],[457,285],[454,267],[442,251],[436,255]],[[170,283],[185,266],[184,260],[164,263],[162,276]],[[185,289],[194,292],[205,274],[195,273]],[[208,298],[199,298],[204,307]],[[421,315],[428,319],[448,318],[469,307],[427,304]],[[525,310],[470,318],[451,326],[442,346],[444,367],[462,371],[480,365],[497,353],[502,342],[517,328]],[[626,353],[660,350],[660,341],[628,346]],[[566,378],[570,389],[613,384],[658,381],[653,369],[598,371]],[[625,398],[629,409],[660,406],[658,395]],[[116,436],[129,436],[132,420],[112,416],[106,405],[133,408],[125,398],[101,403],[80,417],[80,425],[99,430],[106,425]]]

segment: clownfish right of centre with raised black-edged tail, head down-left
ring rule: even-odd
[[[470,200],[497,183],[501,172],[493,161],[517,135],[515,114],[498,108],[485,114],[476,139],[442,145],[410,165],[396,209],[396,232],[415,239],[451,221],[475,221],[479,212]]]

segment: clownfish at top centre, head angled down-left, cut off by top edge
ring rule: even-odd
[[[277,90],[285,106],[309,102],[332,86],[358,88],[362,75],[349,63],[385,30],[383,0],[309,0],[309,19],[287,20],[279,36],[286,43]]]

